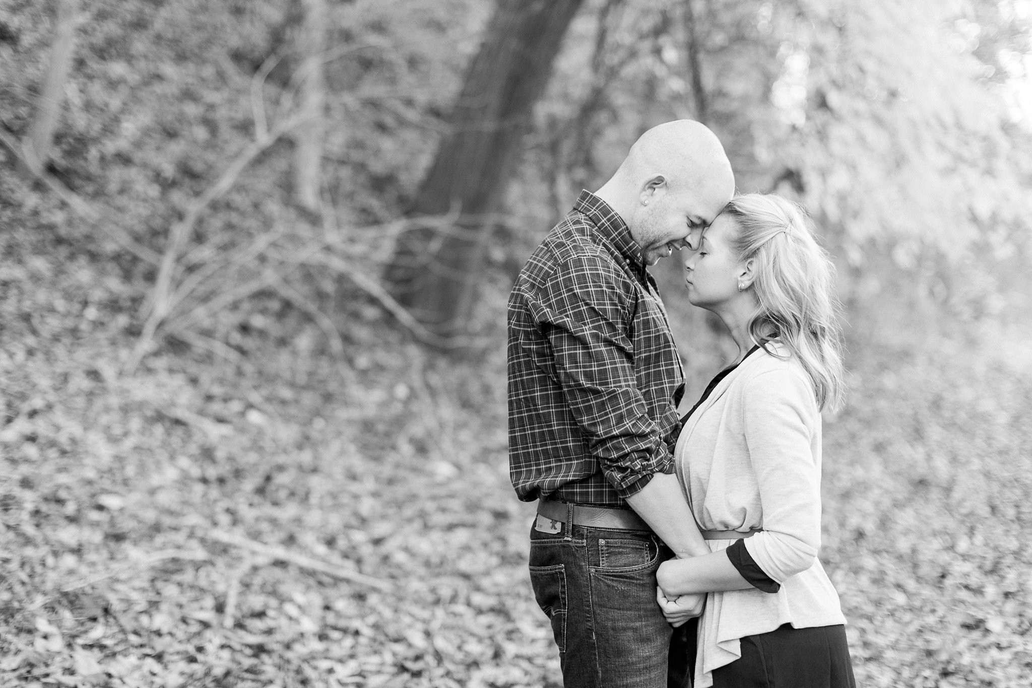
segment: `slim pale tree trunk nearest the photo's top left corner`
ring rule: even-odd
[[[71,68],[71,58],[75,51],[75,25],[78,22],[78,0],[58,0],[57,18],[54,23],[54,43],[51,46],[51,61],[46,67],[36,111],[29,128],[29,134],[22,144],[26,163],[39,174],[51,159],[54,132],[61,119],[64,103],[65,81]]]

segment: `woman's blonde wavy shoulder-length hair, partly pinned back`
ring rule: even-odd
[[[732,248],[754,261],[750,288],[760,306],[749,334],[769,353],[772,339],[783,343],[809,374],[817,405],[838,408],[844,382],[835,266],[806,211],[773,194],[736,196],[723,211],[738,222]]]

